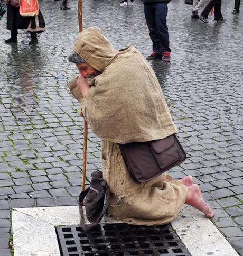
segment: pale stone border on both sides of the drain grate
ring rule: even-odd
[[[78,206],[13,209],[14,256],[60,256],[55,226],[79,221]],[[213,223],[192,207],[185,207],[172,227],[192,256],[238,255]]]

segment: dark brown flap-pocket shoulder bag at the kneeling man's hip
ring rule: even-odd
[[[118,145],[130,175],[139,183],[155,178],[186,159],[175,134],[161,140]]]

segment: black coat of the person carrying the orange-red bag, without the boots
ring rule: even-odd
[[[39,27],[36,28],[35,20],[39,20]],[[7,6],[7,29],[27,29],[29,32],[41,33],[45,29],[45,21],[41,11],[36,17],[22,17],[20,7],[13,7],[10,3]]]

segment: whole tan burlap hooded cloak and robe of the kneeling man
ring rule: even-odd
[[[113,193],[111,215],[142,225],[173,220],[188,188],[165,173],[144,184],[134,182],[116,144],[163,139],[176,132],[153,69],[134,47],[114,50],[96,27],[81,32],[73,50],[101,72],[90,81],[85,98],[77,88],[77,78],[69,88],[81,102],[80,115],[102,138],[104,177]]]

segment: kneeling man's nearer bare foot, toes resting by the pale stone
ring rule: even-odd
[[[214,212],[211,207],[204,201],[201,193],[201,189],[197,184],[193,184],[188,189],[188,196],[186,196],[185,204],[191,205],[203,212],[206,217],[212,218]]]

